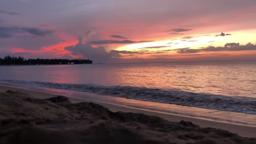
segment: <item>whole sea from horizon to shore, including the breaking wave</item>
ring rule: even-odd
[[[0,80],[256,115],[255,61],[0,66]]]

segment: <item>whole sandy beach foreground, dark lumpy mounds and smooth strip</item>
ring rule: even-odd
[[[256,137],[253,127],[88,102],[1,86],[0,143],[256,143],[216,129]]]

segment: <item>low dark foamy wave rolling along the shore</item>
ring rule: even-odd
[[[178,89],[159,89],[132,86],[101,86],[95,84],[70,84],[36,81],[5,80],[27,86],[67,89],[110,95],[127,99],[158,103],[194,106],[220,111],[241,112],[256,115],[256,98],[228,97],[225,95],[185,92]]]

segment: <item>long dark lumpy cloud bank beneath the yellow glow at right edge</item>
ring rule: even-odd
[[[227,43],[223,47],[208,46],[202,49],[190,49],[189,47],[183,49],[176,49],[177,53],[198,53],[198,52],[216,52],[216,51],[252,51],[256,50],[256,45],[248,43],[240,45],[239,43]]]

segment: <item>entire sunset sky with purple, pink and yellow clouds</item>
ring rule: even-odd
[[[255,0],[1,0],[0,57],[256,60]]]

